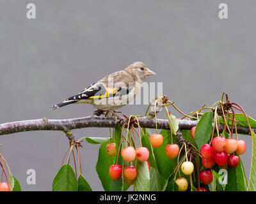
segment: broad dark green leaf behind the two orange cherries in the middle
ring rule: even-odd
[[[173,170],[177,166],[177,157],[175,159],[170,159],[165,154],[166,145],[171,143],[171,133],[168,129],[163,129],[160,133],[163,135],[163,143],[160,147],[154,148],[154,156],[156,159],[157,169],[159,173],[168,179],[172,174]],[[177,139],[173,136],[173,143],[178,143]]]

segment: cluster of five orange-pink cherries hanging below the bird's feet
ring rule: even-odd
[[[116,154],[116,144],[115,143],[109,143],[106,146],[106,150],[109,156],[114,156]],[[134,147],[126,147],[122,149],[121,151],[122,158],[124,161],[132,162],[136,158],[141,161],[145,162],[148,160],[149,151],[146,147],[138,147],[136,150]],[[150,169],[150,164],[147,161],[148,164],[148,170]],[[122,175],[122,166],[120,164],[112,164],[109,167],[109,175],[111,179],[119,179]],[[138,175],[138,171],[135,166],[125,166],[124,168],[124,182],[128,185],[132,185],[134,182],[134,179],[136,179]]]

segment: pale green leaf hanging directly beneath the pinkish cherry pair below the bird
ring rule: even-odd
[[[134,180],[134,191],[150,191],[150,175],[147,162],[138,161],[136,168],[138,170],[138,175]]]

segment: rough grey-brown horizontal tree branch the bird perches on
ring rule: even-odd
[[[139,117],[141,128],[156,128],[156,120],[149,117]],[[124,124],[124,120],[120,121]],[[191,129],[196,126],[196,120],[179,120],[180,129]],[[68,133],[72,129],[81,128],[113,128],[115,127],[115,119],[111,117],[97,117],[88,116],[75,119],[36,119],[36,120],[22,120],[16,122],[6,122],[0,124],[0,135],[8,135],[12,133],[19,133],[23,131],[38,131],[38,130],[54,130]],[[136,126],[134,124],[134,126]],[[157,119],[158,129],[169,129],[168,120]],[[223,126],[220,127],[223,129]],[[256,129],[253,129],[256,133]],[[237,133],[250,135],[250,129],[237,126]]]

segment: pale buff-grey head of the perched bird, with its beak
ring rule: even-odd
[[[131,73],[131,75],[135,75],[138,78],[138,82],[144,82],[148,76],[156,75],[143,62],[134,62],[125,68],[125,71]]]

